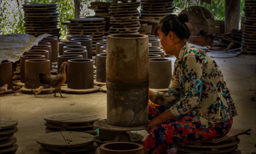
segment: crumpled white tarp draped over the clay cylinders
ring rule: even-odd
[[[43,38],[51,36],[42,34],[38,37],[29,34],[7,34],[0,36],[0,64],[3,60],[16,62],[24,52],[38,45]]]

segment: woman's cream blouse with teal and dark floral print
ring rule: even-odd
[[[151,101],[171,107],[176,117],[189,111],[199,115],[204,128],[238,115],[219,66],[189,43],[183,45],[175,61],[168,92],[155,91]]]

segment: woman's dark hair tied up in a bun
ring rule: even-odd
[[[169,31],[172,31],[180,40],[188,39],[190,36],[190,31],[186,22],[189,22],[189,18],[186,14],[180,14],[179,16],[175,14],[166,15],[155,28],[155,36],[157,35],[157,30],[160,29],[165,36],[168,35]]]

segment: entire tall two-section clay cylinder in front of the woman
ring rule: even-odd
[[[148,122],[149,51],[142,34],[107,37],[107,123],[119,127]]]

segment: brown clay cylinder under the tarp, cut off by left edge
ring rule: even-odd
[[[0,86],[9,85],[8,89],[13,87],[13,69],[11,61],[3,60],[0,64]]]

